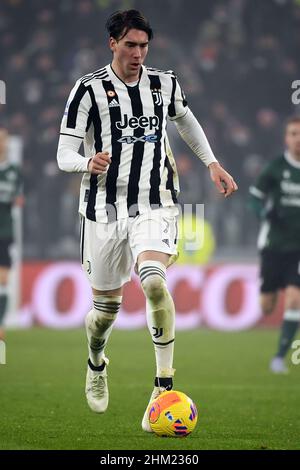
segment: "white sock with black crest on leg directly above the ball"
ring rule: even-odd
[[[139,275],[146,296],[147,324],[154,344],[156,376],[172,377],[175,307],[166,285],[166,267],[159,261],[143,261]]]

